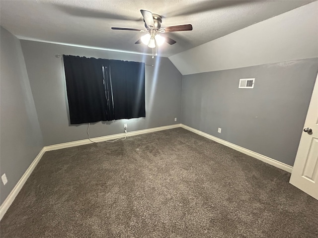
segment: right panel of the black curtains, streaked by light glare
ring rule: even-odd
[[[145,63],[109,60],[114,119],[146,117]]]

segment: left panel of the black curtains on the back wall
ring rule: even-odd
[[[109,60],[63,56],[71,124],[109,120],[103,65]]]

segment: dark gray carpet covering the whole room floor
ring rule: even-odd
[[[1,238],[317,238],[290,174],[182,128],[46,152]]]

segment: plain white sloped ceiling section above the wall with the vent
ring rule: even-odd
[[[169,57],[194,74],[318,57],[318,1]]]

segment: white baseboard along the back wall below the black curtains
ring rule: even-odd
[[[159,131],[159,130],[167,130],[167,129],[177,128],[180,126],[181,126],[181,124],[174,124],[174,125],[166,125],[166,126],[154,127],[154,128],[150,128],[150,129],[144,129],[144,130],[136,130],[136,131],[128,132],[127,137],[133,136],[133,135],[140,135],[140,134],[155,132],[155,131]],[[125,136],[126,136],[125,133],[120,133],[120,134],[107,135],[107,136],[95,137],[95,138],[90,138],[90,139],[94,142],[103,142],[106,140],[114,140],[114,139],[118,139],[118,138],[123,138]],[[67,142],[67,143],[62,143],[62,144],[45,146],[44,148],[45,148],[45,151],[50,151],[50,150],[59,150],[59,149],[69,148],[69,147],[73,147],[73,146],[86,145],[86,144],[91,144],[91,143],[93,143],[93,142],[91,142],[88,139],[85,139],[85,140],[77,140],[77,141],[72,141],[72,142]]]

